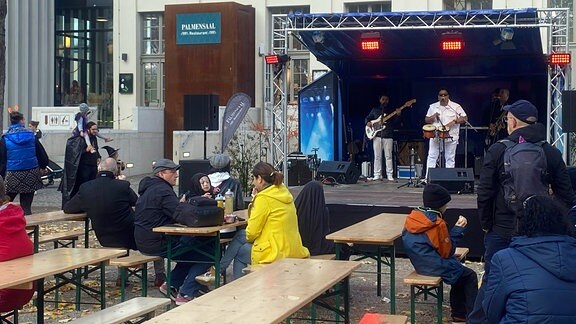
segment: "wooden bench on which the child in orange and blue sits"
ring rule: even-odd
[[[466,259],[470,249],[457,247],[454,256],[461,262]],[[441,277],[424,276],[412,271],[404,283],[410,286],[410,323],[416,322],[416,297],[424,295],[427,300],[428,295],[436,298],[436,321],[442,323],[442,302],[444,301],[444,284]]]

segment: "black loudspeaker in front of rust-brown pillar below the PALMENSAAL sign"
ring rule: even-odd
[[[184,95],[184,130],[218,130],[218,95]]]

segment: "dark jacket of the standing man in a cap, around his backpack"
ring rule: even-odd
[[[518,143],[522,136],[526,141],[536,143],[546,140],[546,126],[540,123],[528,125],[512,132],[508,140]],[[576,195],[572,191],[570,177],[562,154],[552,145],[543,146],[548,165],[548,181],[555,198],[567,207],[576,205]],[[484,156],[484,165],[478,182],[478,215],[482,229],[494,231],[501,237],[510,238],[514,230],[514,214],[506,206],[502,182],[504,173],[504,151],[506,146],[495,143]]]

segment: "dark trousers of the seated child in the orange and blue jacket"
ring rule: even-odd
[[[478,293],[478,277],[474,270],[464,267],[464,272],[450,289],[450,308],[453,317],[466,318],[474,308]]]

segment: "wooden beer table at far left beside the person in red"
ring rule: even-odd
[[[25,257],[0,262],[0,289],[3,288],[26,288],[31,287],[31,283],[36,281],[38,292],[37,323],[44,323],[44,295],[65,284],[73,284],[77,289],[87,289],[88,291],[97,292],[100,296],[100,308],[106,308],[105,293],[105,265],[110,259],[126,254],[125,250],[117,249],[89,249],[89,248],[71,248],[55,249],[35,253]],[[82,284],[84,276],[83,267],[88,265],[99,264],[100,286],[96,290],[86,287]],[[65,272],[76,270],[75,275],[70,278],[59,276]],[[62,279],[60,284],[44,290],[44,278],[57,275]],[[79,291],[79,290],[77,290]],[[76,300],[79,303],[79,296]]]

